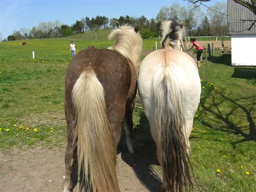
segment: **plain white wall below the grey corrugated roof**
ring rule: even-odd
[[[256,66],[256,34],[231,36],[232,66]]]

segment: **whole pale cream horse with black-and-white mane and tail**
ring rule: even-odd
[[[147,55],[139,69],[138,88],[162,168],[162,191],[192,187],[188,170],[193,117],[200,102],[197,65],[182,50],[185,28],[162,24],[162,49]]]

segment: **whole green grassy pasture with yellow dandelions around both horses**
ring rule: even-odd
[[[105,48],[113,44],[113,41],[74,41],[77,52],[88,46]],[[27,42],[24,47],[20,46],[21,41],[0,43],[0,150],[37,146],[63,149],[66,145],[64,79],[71,59],[70,40]],[[143,40],[148,51],[152,44],[155,45],[155,40]],[[231,67],[230,55],[219,56],[217,52],[208,59],[209,82],[205,81],[205,62],[199,69],[201,103],[190,136],[193,189],[256,191],[256,87],[251,81],[256,69]],[[141,148],[133,161],[137,157],[137,166],[161,172],[138,96],[133,119],[134,141]],[[123,132],[120,148],[127,151],[124,143]],[[127,152],[127,163],[129,156]],[[141,182],[150,186],[136,170]]]

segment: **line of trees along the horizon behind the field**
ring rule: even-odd
[[[213,9],[226,13],[226,2],[216,2]],[[225,36],[226,35],[226,16],[216,11],[209,10],[207,13],[201,11],[200,7],[180,6],[175,2],[170,7],[163,6],[156,18],[147,19],[144,15],[139,18],[129,15],[111,18],[97,15],[95,18],[89,17],[76,20],[71,26],[61,24],[59,20],[54,22],[41,22],[37,27],[27,29],[21,28],[14,31],[6,40],[19,39],[44,39],[44,38],[63,38],[72,34],[85,33],[93,30],[105,28],[115,28],[121,25],[139,26],[143,39],[158,37],[161,35],[161,21],[175,19],[183,22],[189,36]]]

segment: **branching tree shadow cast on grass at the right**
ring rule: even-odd
[[[215,126],[216,124],[219,124],[222,127],[226,127],[226,129],[219,129],[223,132],[242,135],[244,139],[231,142],[231,144],[233,145],[233,148],[235,148],[238,143],[241,143],[244,141],[256,141],[255,122],[251,115],[256,113],[255,97],[256,95],[234,99],[224,95],[224,90],[215,91],[215,95],[212,95],[212,97],[209,97],[209,99],[212,98],[212,102],[211,102],[212,104],[209,107],[204,109],[216,118],[210,119],[212,123],[207,123],[203,121],[202,124],[214,129],[219,129]],[[226,102],[231,103],[230,106],[232,106],[232,109],[230,110],[230,112],[227,112],[227,113],[226,113],[226,110],[224,110],[225,112],[223,112],[223,109],[220,109],[220,105],[223,103],[225,104]],[[245,126],[245,127],[236,126],[231,116],[233,116],[232,118],[234,118],[235,116],[237,119],[241,119],[241,117],[245,117],[248,121],[248,126]]]

